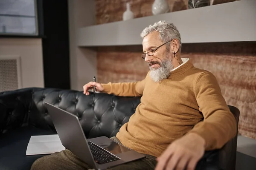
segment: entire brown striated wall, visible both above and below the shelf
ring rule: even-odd
[[[213,4],[234,0],[215,0]],[[152,15],[154,0],[96,0],[97,24],[122,20],[125,3],[135,17]],[[188,0],[168,0],[172,11],[187,9]],[[153,24],[153,23],[152,23]],[[100,47],[98,78],[102,83],[134,82],[145,78],[148,65],[140,58],[142,46]],[[211,71],[228,105],[241,111],[239,133],[256,139],[256,42],[183,44],[182,57],[195,67]]]

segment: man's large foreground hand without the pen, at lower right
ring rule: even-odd
[[[205,140],[196,133],[189,133],[166,148],[157,158],[155,170],[195,170],[204,150]]]

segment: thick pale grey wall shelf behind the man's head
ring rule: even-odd
[[[141,31],[171,21],[182,43],[256,41],[256,0],[240,0],[79,28],[78,46],[141,45]]]

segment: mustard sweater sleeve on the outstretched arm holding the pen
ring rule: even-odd
[[[108,84],[102,84],[104,88],[102,92],[114,94],[116,96],[142,96],[145,79],[138,82],[109,82]]]

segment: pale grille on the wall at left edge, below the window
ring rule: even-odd
[[[0,92],[22,88],[19,56],[0,56]]]

